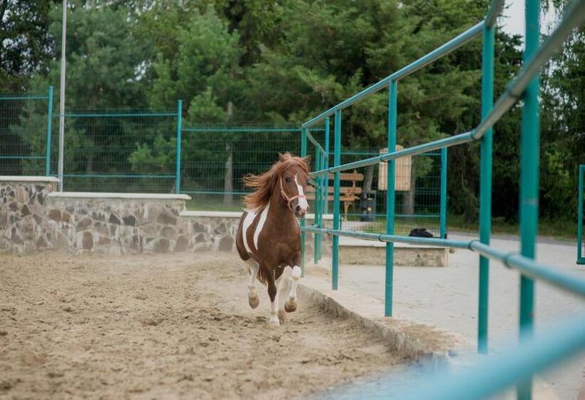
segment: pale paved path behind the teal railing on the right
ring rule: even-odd
[[[451,234],[449,239],[469,239]],[[493,239],[492,245],[517,251],[512,238]],[[469,339],[477,337],[477,291],[479,256],[457,250],[449,254],[448,268],[397,267],[394,272],[394,312],[397,316],[439,326]],[[537,259],[585,279],[585,268],[577,266],[576,246],[545,239],[539,242]],[[343,260],[341,260],[343,262]],[[384,267],[340,266],[340,288],[369,294],[382,301]],[[546,284],[536,284],[536,333],[562,316],[585,309],[584,301]],[[519,274],[492,261],[489,287],[489,346],[498,351],[502,343],[518,332]],[[577,399],[583,382],[585,356],[544,375],[560,399]]]

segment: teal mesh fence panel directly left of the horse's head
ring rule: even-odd
[[[318,132],[314,132],[318,134]],[[181,193],[192,209],[238,211],[248,192],[242,178],[261,174],[278,153],[299,154],[295,126],[190,126],[182,129]]]

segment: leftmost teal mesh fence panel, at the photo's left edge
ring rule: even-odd
[[[0,174],[49,175],[53,86],[46,94],[0,94]]]

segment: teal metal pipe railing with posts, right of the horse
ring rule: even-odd
[[[582,24],[585,19],[585,0],[576,0],[566,12],[561,24],[553,31],[544,44],[539,46],[539,1],[526,1],[526,40],[524,49],[524,66],[516,78],[509,84],[504,94],[494,104],[494,31],[497,16],[502,11],[503,0],[494,0],[484,21],[467,29],[438,49],[414,61],[412,64],[378,81],[376,84],[360,91],[331,109],[322,112],[315,118],[302,124],[308,128],[322,121],[328,121],[330,116],[335,117],[334,123],[334,165],[330,168],[318,169],[310,176],[316,179],[319,176],[326,176],[335,173],[335,189],[333,204],[333,229],[320,227],[303,227],[302,231],[311,231],[315,234],[329,234],[332,237],[332,289],[338,287],[339,271],[339,237],[350,236],[360,239],[370,239],[386,242],[386,265],[385,265],[385,316],[392,316],[392,285],[394,267],[394,242],[419,243],[437,246],[458,247],[476,251],[480,255],[479,261],[479,296],[478,296],[478,326],[477,326],[477,348],[479,353],[487,353],[488,349],[488,294],[489,294],[489,259],[502,262],[504,266],[517,269],[521,274],[520,287],[520,336],[522,343],[531,343],[534,315],[534,279],[540,279],[549,284],[559,286],[561,289],[571,291],[579,296],[585,296],[585,280],[574,279],[567,276],[558,269],[551,266],[544,266],[534,261],[536,249],[536,234],[538,231],[538,176],[539,176],[539,71],[549,61],[554,52],[559,49],[563,41],[571,34],[571,31]],[[456,134],[443,139],[430,141],[408,149],[396,151],[397,137],[397,91],[398,82],[405,79],[409,74],[421,69],[423,66],[439,59],[449,52],[457,49],[470,40],[482,36],[483,57],[482,57],[482,118],[472,131]],[[341,149],[341,124],[342,110],[382,89],[388,89],[388,152],[380,156],[370,157],[347,164],[340,164]],[[489,245],[491,232],[491,194],[492,194],[492,126],[499,121],[519,99],[523,100],[522,106],[522,134],[520,154],[520,254],[504,253]],[[400,156],[421,154],[425,151],[445,149],[449,146],[466,144],[472,141],[479,141],[481,150],[480,161],[480,204],[479,204],[479,239],[472,241],[452,241],[448,239],[413,239],[407,236],[394,234],[395,219],[395,160]],[[387,209],[386,209],[386,234],[368,234],[364,232],[342,231],[339,226],[340,215],[340,172],[350,169],[388,162],[387,174]],[[581,319],[579,329],[583,329],[585,322]],[[585,346],[585,341],[571,341],[570,349],[576,350]],[[565,349],[567,350],[567,349]],[[565,353],[562,354],[566,354]],[[522,353],[524,354],[524,353]],[[554,353],[559,356],[561,350]],[[551,357],[551,359],[554,357]],[[552,361],[549,361],[552,362]],[[548,365],[546,362],[543,365]],[[519,399],[531,398],[531,372],[541,365],[525,364],[517,366],[524,374],[517,386]],[[487,375],[493,374],[487,369]],[[497,384],[499,385],[499,384]],[[497,386],[490,384],[490,388]],[[497,386],[503,389],[504,386]],[[476,398],[483,392],[477,388],[465,385],[465,398]],[[460,389],[459,389],[460,390]],[[477,396],[476,396],[477,394]],[[439,397],[437,397],[439,398]],[[445,396],[442,398],[453,398]],[[478,397],[479,398],[479,397]]]

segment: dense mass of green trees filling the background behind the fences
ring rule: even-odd
[[[566,4],[550,2],[559,14]],[[183,99],[185,127],[240,121],[298,126],[457,36],[488,8],[487,0],[74,0],[66,106],[171,111]],[[58,93],[59,6],[0,0],[0,12],[4,25],[23,38],[0,31],[0,85],[44,93],[53,84]],[[571,36],[541,75],[541,211],[551,218],[574,212],[576,165],[585,162],[583,32]],[[519,38],[498,32],[495,55],[497,97],[522,64]],[[401,79],[398,143],[412,146],[477,126],[481,61],[475,40]],[[11,129],[38,129],[38,108],[30,104]],[[494,126],[492,214],[509,221],[518,209],[519,109],[517,104]],[[352,104],[342,118],[344,149],[385,147],[387,91]],[[68,118],[68,171],[166,174],[174,168],[172,118],[120,118],[107,127],[104,121]],[[42,151],[41,136],[21,136]],[[298,151],[297,134],[184,132],[183,182],[193,189],[239,190],[232,168],[245,163],[259,171],[283,149]],[[204,166],[192,162],[203,159]],[[430,164],[417,163],[414,186],[432,174]],[[364,189],[375,184],[374,171]],[[474,222],[478,144],[449,149],[448,193],[450,211]],[[414,195],[405,196],[407,204]]]

